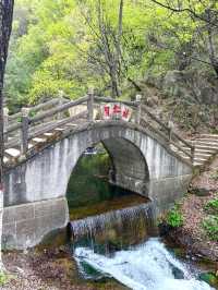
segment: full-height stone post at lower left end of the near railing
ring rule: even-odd
[[[28,108],[22,108],[21,152],[24,155],[28,149]]]

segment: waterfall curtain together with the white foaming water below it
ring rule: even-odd
[[[113,277],[133,290],[214,289],[197,280],[193,265],[179,261],[158,238],[150,238],[153,215],[149,202],[71,221],[73,255],[83,277]]]

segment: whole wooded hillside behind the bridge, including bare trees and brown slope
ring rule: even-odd
[[[14,112],[93,86],[98,95],[164,101],[168,119],[177,105],[183,128],[216,131],[217,20],[216,0],[17,0],[7,104]]]

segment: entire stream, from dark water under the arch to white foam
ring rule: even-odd
[[[100,156],[97,166],[98,158],[83,157],[68,189],[68,230],[82,279],[113,279],[134,290],[214,289],[198,279],[196,264],[175,256],[159,238],[152,202],[98,178],[107,174],[107,158]]]

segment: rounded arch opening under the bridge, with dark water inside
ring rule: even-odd
[[[73,218],[95,215],[98,203],[101,203],[100,207],[109,207],[105,208],[107,210],[114,209],[123,201],[124,206],[125,203],[129,206],[131,196],[145,202],[148,182],[147,164],[140,148],[121,137],[106,138],[87,147],[73,167],[66,189],[70,214],[73,213]],[[122,202],[118,201],[120,197]],[[109,205],[107,201],[111,200]]]

